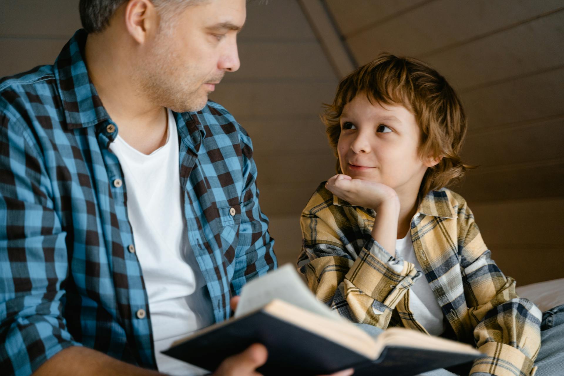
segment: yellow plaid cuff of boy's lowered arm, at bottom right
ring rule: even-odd
[[[495,376],[534,376],[536,366],[534,362],[521,351],[505,343],[484,343],[478,351],[486,356],[474,361],[470,376],[479,373]]]

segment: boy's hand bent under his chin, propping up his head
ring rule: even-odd
[[[399,204],[398,194],[382,183],[352,179],[349,175],[337,174],[325,184],[337,197],[352,205],[378,210],[384,203]]]

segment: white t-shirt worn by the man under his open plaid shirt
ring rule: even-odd
[[[143,154],[118,135],[110,150],[124,171],[127,215],[149,297],[158,370],[170,375],[203,374],[161,354],[175,340],[214,321],[208,289],[188,241],[172,112],[168,110],[168,137],[161,148]]]

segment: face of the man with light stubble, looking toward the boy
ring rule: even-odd
[[[147,41],[136,74],[153,103],[176,112],[204,108],[225,72],[239,69],[237,32],[245,23],[245,0],[210,0],[161,19]]]

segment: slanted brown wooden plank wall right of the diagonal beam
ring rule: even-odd
[[[432,65],[469,117],[455,188],[519,285],[564,276],[564,3],[325,0],[358,64],[380,52]]]

